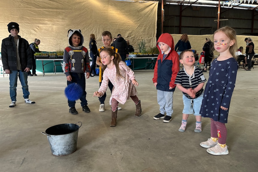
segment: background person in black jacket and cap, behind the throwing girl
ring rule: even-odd
[[[126,40],[121,36],[117,35],[116,41],[113,42],[113,47],[118,49],[118,53],[122,57],[122,61],[125,61],[125,58],[129,56],[128,46]]]

